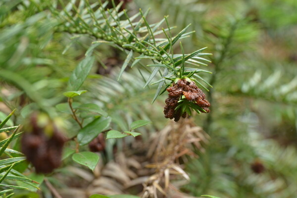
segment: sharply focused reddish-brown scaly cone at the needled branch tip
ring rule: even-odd
[[[172,87],[168,87],[167,92],[169,92],[169,94],[168,98],[165,100],[165,118],[174,118],[174,121],[177,122],[180,117],[185,118],[187,116],[186,112],[181,115],[181,110],[174,110],[178,105],[178,101],[181,99],[181,96],[185,96],[185,98],[189,101],[196,101],[196,105],[203,108],[207,113],[210,111],[208,108],[210,103],[205,99],[205,94],[193,81],[188,82],[185,79],[180,79],[177,83],[174,83]]]

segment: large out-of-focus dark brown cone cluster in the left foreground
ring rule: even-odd
[[[44,118],[40,119],[40,115],[33,114],[21,139],[22,152],[37,173],[50,173],[60,166],[66,141],[57,127]]]

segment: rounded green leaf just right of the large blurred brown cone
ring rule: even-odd
[[[90,151],[84,151],[84,152],[79,152],[79,153],[74,153],[72,155],[72,159],[84,166],[89,167],[92,171],[94,171],[98,161],[99,161],[99,156],[98,154]]]

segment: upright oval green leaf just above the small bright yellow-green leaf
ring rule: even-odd
[[[68,81],[70,90],[79,90],[91,71],[94,61],[94,56],[86,56],[80,63],[78,63]]]

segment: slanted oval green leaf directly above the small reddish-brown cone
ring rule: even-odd
[[[79,130],[77,134],[77,140],[80,145],[86,145],[96,138],[99,133],[109,127],[111,118],[100,117],[93,120],[87,126]]]

